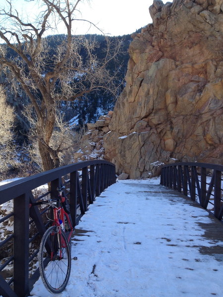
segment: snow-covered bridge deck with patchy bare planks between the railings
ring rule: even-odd
[[[159,185],[119,181],[82,217],[72,243],[71,277],[58,297],[223,297],[222,247],[204,236],[213,222]],[[202,249],[201,249],[202,250]],[[51,297],[38,280],[31,296]]]

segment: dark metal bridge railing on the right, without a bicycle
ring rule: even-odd
[[[202,207],[223,218],[223,165],[173,163],[162,166],[161,185],[197,201]]]

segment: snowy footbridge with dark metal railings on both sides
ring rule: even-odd
[[[12,218],[14,221],[14,231],[0,243],[1,251],[9,253],[4,261],[1,260],[1,296],[28,296],[38,279],[38,269],[34,269],[38,249],[34,249],[32,245],[41,239],[48,222],[42,219],[42,216],[46,215],[44,210],[41,213],[37,208],[29,213],[28,204],[29,200],[44,199],[48,195],[57,196],[56,188],[61,184],[66,185],[67,188],[66,194],[69,197],[73,225],[77,225],[82,217],[81,222],[75,228],[72,246],[72,253],[77,253],[78,260],[73,261],[74,268],[71,274],[75,275],[78,271],[79,274],[75,275],[75,285],[71,282],[67,290],[72,290],[72,287],[75,288],[75,292],[78,288],[80,290],[82,288],[82,293],[88,290],[86,295],[82,294],[86,297],[109,295],[172,297],[181,296],[180,294],[191,297],[197,295],[191,294],[191,289],[189,291],[186,289],[186,282],[193,283],[192,287],[195,286],[197,290],[201,290],[201,285],[198,287],[200,281],[200,284],[207,289],[201,291],[204,292],[203,296],[221,296],[219,292],[222,290],[222,285],[219,279],[222,273],[223,254],[223,225],[220,221],[223,213],[222,171],[223,166],[220,165],[176,163],[164,166],[162,170],[161,184],[165,186],[160,185],[160,179],[156,184],[150,184],[148,180],[128,180],[114,184],[114,166],[106,161],[98,160],[67,165],[1,186],[0,204],[14,200],[13,211],[6,211],[0,219],[2,225],[6,225],[6,222]],[[46,190],[40,188],[46,183],[49,186]],[[108,187],[109,189],[105,190]],[[113,187],[117,187],[118,190],[114,190]],[[90,206],[96,196],[99,198]],[[137,203],[134,204],[134,201]],[[208,212],[203,209],[204,206]],[[87,211],[88,208],[89,211]],[[83,216],[86,211],[87,214]],[[90,219],[88,219],[89,215]],[[139,221],[140,215],[143,215],[141,221]],[[110,222],[112,228],[107,230],[107,236],[103,238],[99,234],[101,231],[97,231],[97,227],[103,225],[106,228],[106,220]],[[149,222],[153,223],[149,225]],[[105,235],[106,232],[104,231],[103,234]],[[116,239],[116,242],[120,241],[121,246],[117,245],[114,248],[112,239]],[[12,245],[16,248],[13,249]],[[97,250],[99,245],[101,245],[100,250],[104,250],[104,254],[110,255],[109,258],[107,257],[109,262],[104,265],[104,271],[100,269],[99,261],[103,259],[102,254],[94,253],[94,249]],[[85,256],[89,264],[88,268],[84,263],[79,263],[83,259],[81,254],[83,249],[87,250]],[[112,249],[116,253],[111,254]],[[1,255],[3,254],[2,252]],[[144,258],[140,258],[139,255],[143,255]],[[161,255],[165,257],[162,258]],[[215,258],[215,261],[217,259],[218,265],[209,257]],[[125,263],[133,264],[132,267],[127,264],[127,266],[122,265],[122,268],[129,273],[125,277],[124,270],[121,270],[121,266],[118,265],[118,259],[121,258],[125,259]],[[192,259],[196,265],[192,263]],[[4,271],[12,264],[13,275],[10,277],[4,274]],[[177,265],[182,266],[184,273],[182,273],[183,270],[180,272],[177,269],[175,274],[171,273]],[[194,266],[201,275],[196,273],[197,269],[194,269]],[[106,267],[110,267],[110,270],[106,270]],[[81,269],[82,275],[87,274],[85,285],[81,284]],[[206,273],[202,274],[204,270]],[[111,271],[114,273],[111,274]],[[147,282],[143,281],[142,271],[147,272]],[[102,292],[97,295],[98,287],[95,284],[100,281],[100,273],[101,278],[106,274],[108,277],[107,282],[102,286],[105,290],[106,286],[111,289],[110,275],[114,277],[114,280],[116,276],[118,285],[109,295],[107,293],[102,295]],[[170,274],[175,278],[168,278]],[[160,285],[154,281],[154,277],[159,275],[161,276]],[[128,279],[124,286],[121,285],[120,277]],[[173,281],[173,279],[178,282],[169,284],[168,280]],[[198,279],[197,283],[194,282],[195,279]],[[77,280],[80,281],[79,287],[76,284]],[[135,285],[131,286],[132,283]],[[214,287],[213,283],[216,283]],[[137,284],[141,289],[137,287]],[[175,284],[181,288],[181,291],[176,290]],[[37,295],[38,286],[38,283],[34,286],[32,294],[44,297],[44,292]],[[174,288],[174,292],[178,292],[178,295],[174,295],[170,287]],[[125,290],[128,288],[129,291],[123,293],[123,288]],[[61,296],[67,296],[65,294],[67,293],[64,292]],[[81,296],[75,294],[71,295]]]

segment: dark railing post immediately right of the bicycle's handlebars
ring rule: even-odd
[[[77,171],[70,173],[70,214],[73,222],[73,227],[76,225],[77,216]]]

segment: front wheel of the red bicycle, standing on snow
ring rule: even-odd
[[[69,280],[70,247],[60,227],[50,227],[43,235],[39,250],[40,275],[47,290],[58,294]]]

